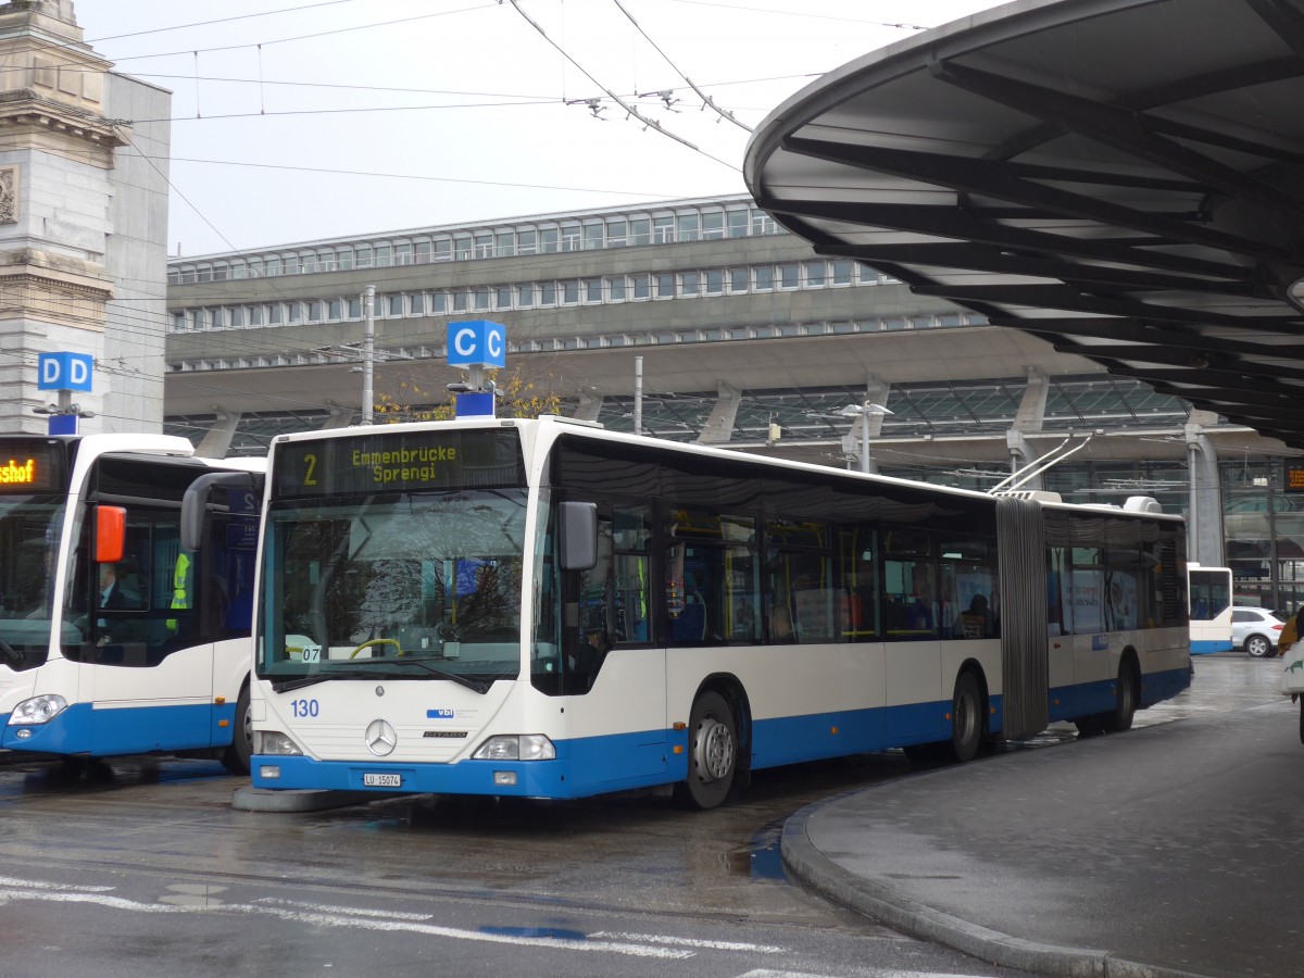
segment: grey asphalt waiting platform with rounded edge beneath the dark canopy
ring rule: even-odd
[[[1304,745],[1278,662],[1197,657],[1200,698],[1224,712],[818,802],[785,824],[784,859],[876,921],[1004,966],[1304,974]]]

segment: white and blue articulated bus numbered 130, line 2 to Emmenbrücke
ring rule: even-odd
[[[561,419],[282,436],[269,467],[257,788],[709,808],[765,767],[1123,730],[1191,682],[1174,516]]]

